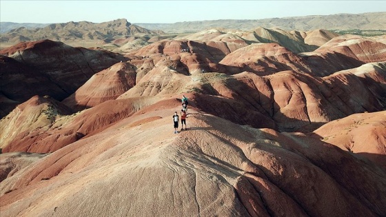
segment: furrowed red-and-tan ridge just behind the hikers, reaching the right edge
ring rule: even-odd
[[[252,72],[187,76],[160,64],[118,99],[199,92],[192,97],[205,112],[241,125],[285,132],[309,132],[350,114],[378,112],[386,105],[384,63],[323,78],[292,71],[269,76]],[[354,98],[347,97],[351,95]]]

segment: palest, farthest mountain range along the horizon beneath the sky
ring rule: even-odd
[[[281,28],[283,30],[386,30],[386,12],[369,12],[362,14],[330,14],[304,17],[282,17],[254,20],[208,20],[185,21],[177,23],[134,23],[148,30],[162,30],[167,33],[199,32],[207,28],[228,28],[252,30],[257,27]],[[73,23],[73,22],[70,22]],[[90,22],[78,22],[90,23]],[[65,23],[62,23],[65,24]],[[96,24],[96,23],[95,23]],[[0,33],[25,27],[27,29],[43,28],[51,24],[0,22]]]

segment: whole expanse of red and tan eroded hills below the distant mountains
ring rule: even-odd
[[[1,216],[386,216],[383,38],[211,28],[3,49]]]

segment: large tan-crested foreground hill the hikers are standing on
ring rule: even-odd
[[[317,138],[241,127],[196,111],[187,118],[189,130],[176,135],[176,109],[165,102],[139,111],[10,174],[1,185],[1,213],[386,214],[385,171]]]

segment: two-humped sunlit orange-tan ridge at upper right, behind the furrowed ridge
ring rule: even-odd
[[[254,43],[227,54],[219,63],[233,74],[247,71],[259,75],[293,70],[328,76],[365,63],[386,61],[386,45],[356,36],[335,37],[314,52],[295,54],[277,43]]]

